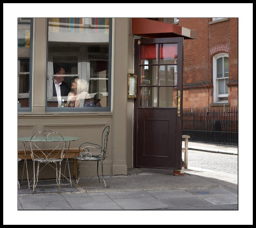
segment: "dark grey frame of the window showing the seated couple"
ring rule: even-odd
[[[87,18],[88,19],[88,18]],[[90,20],[91,22],[92,20]],[[107,107],[73,107],[72,109],[69,107],[47,107],[47,99],[49,95],[48,91],[48,70],[49,70],[49,63],[48,63],[48,55],[49,55],[49,45],[48,45],[48,39],[49,39],[49,18],[47,18],[47,50],[46,50],[46,75],[45,75],[45,112],[110,112],[111,111],[111,61],[112,61],[112,18],[109,18],[109,43],[108,43],[108,106]],[[80,50],[81,52],[81,50]],[[77,63],[77,73],[81,77],[81,63]],[[80,68],[80,70],[79,70]],[[87,66],[86,72],[88,75],[90,75],[89,66]],[[52,84],[51,84],[52,85]],[[52,86],[51,86],[52,87]]]

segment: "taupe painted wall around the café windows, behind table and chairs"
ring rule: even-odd
[[[133,102],[127,100],[127,73],[133,71],[133,36],[129,36],[129,19],[113,19],[111,111],[110,112],[45,112],[45,77],[47,54],[47,19],[34,19],[32,112],[18,114],[18,135],[25,137],[39,130],[52,129],[63,135],[79,137],[70,148],[84,141],[100,143],[104,126],[110,126],[104,174],[127,174],[132,167]],[[129,66],[128,66],[129,65]],[[18,149],[22,149],[18,142]],[[69,158],[72,172],[72,159]],[[19,178],[22,166],[19,164]],[[33,174],[29,161],[29,173]],[[53,172],[53,177],[56,175]],[[71,174],[72,175],[72,174]],[[81,176],[97,175],[97,162],[82,162]],[[25,176],[24,176],[25,178]]]

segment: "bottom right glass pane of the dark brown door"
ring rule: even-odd
[[[175,87],[159,87],[159,107],[176,107],[173,100],[176,92]]]

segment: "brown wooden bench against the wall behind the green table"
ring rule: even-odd
[[[35,149],[35,151],[38,149]],[[46,149],[44,149],[45,151]],[[51,149],[47,149],[47,151],[50,151]],[[52,152],[52,153],[58,153],[58,152]],[[68,151],[68,158],[72,159],[74,156],[79,156],[79,148],[70,148]],[[18,149],[18,158],[24,160],[25,155],[24,155],[24,149]],[[26,158],[27,160],[31,160],[31,151],[30,149],[26,149]],[[67,158],[65,155],[64,158]],[[73,177],[76,178],[77,176],[77,171],[76,171],[76,161],[73,160]]]

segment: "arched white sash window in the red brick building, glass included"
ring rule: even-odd
[[[213,58],[214,102],[228,102],[228,56],[218,54]]]

